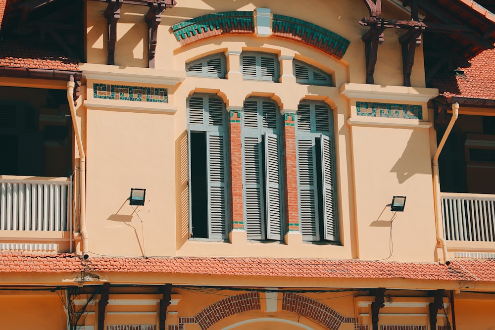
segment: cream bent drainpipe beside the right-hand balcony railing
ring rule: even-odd
[[[448,257],[447,251],[447,242],[444,238],[444,227],[442,226],[442,205],[440,199],[440,179],[439,179],[439,170],[438,170],[438,157],[440,156],[440,152],[444,148],[445,141],[454,126],[457,117],[459,116],[459,103],[452,104],[452,118],[450,118],[450,122],[448,123],[447,129],[445,130],[444,136],[440,141],[437,151],[432,159],[432,169],[433,169],[433,200],[435,203],[435,224],[437,226],[437,239],[442,244],[442,251],[444,253],[445,264],[450,264],[450,258]]]

